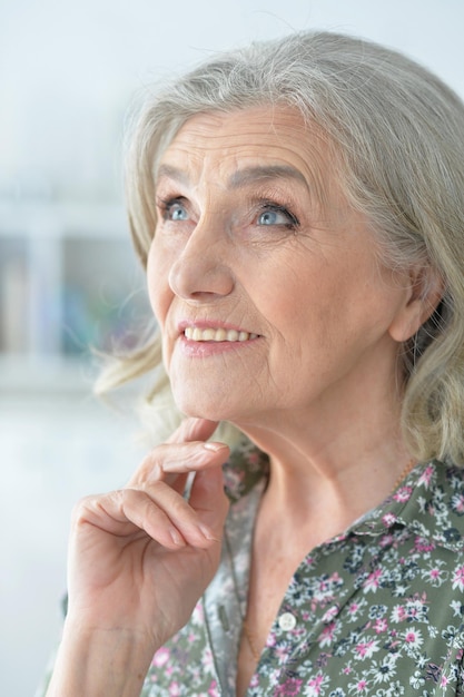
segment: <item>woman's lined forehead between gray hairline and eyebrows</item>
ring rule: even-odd
[[[166,148],[157,174],[177,170],[188,177],[195,170],[197,179],[211,167],[218,176],[230,178],[263,166],[282,175],[294,170],[314,188],[315,180],[327,185],[328,160],[328,147],[318,128],[305,121],[297,109],[256,107],[191,117]]]

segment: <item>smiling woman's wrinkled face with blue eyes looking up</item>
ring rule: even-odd
[[[298,112],[191,118],[156,198],[149,293],[184,413],[280,419],[395,377],[406,291]]]

